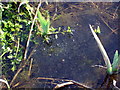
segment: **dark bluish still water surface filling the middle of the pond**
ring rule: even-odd
[[[58,3],[59,4],[59,3]],[[46,77],[46,78],[62,78],[75,80],[91,87],[97,87],[105,78],[106,71],[103,68],[91,67],[92,65],[105,65],[96,41],[90,31],[89,24],[97,25],[101,28],[99,38],[103,43],[108,56],[113,59],[114,53],[118,48],[118,34],[112,33],[110,28],[101,20],[103,14],[100,11],[95,11],[90,3],[65,3],[66,7],[61,10],[61,17],[53,21],[53,27],[62,26],[66,29],[70,26],[73,29],[73,35],[58,34],[58,39],[52,40],[51,45],[47,45],[39,41],[39,46],[36,49],[33,67],[33,77]],[[64,4],[62,4],[64,6]],[[68,6],[67,6],[68,5]],[[78,8],[70,7],[74,5]],[[82,6],[83,5],[83,6]],[[82,8],[83,9],[82,9]],[[102,7],[102,6],[101,6]],[[114,4],[108,3],[108,6],[115,10]],[[65,10],[68,8],[68,10]],[[81,8],[81,9],[80,9]],[[59,9],[58,9],[59,11]],[[111,12],[108,10],[108,13]],[[108,16],[105,16],[108,17]],[[105,18],[109,21],[108,18]],[[117,28],[117,21],[111,19],[110,26]],[[47,81],[46,81],[47,82]],[[48,81],[49,82],[49,81]],[[120,82],[120,81],[119,81]],[[32,84],[28,87],[50,87],[52,84],[41,84],[41,81],[33,80]]]

